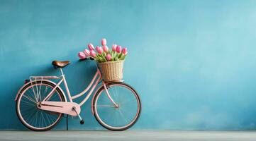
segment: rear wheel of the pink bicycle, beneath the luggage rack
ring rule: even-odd
[[[16,101],[16,113],[23,125],[30,130],[45,131],[53,128],[62,118],[63,114],[38,109],[38,103],[53,90],[55,85],[47,81],[35,81],[28,83]],[[62,91],[57,88],[50,102],[65,102]]]

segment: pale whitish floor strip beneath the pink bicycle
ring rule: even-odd
[[[109,141],[149,141],[149,140],[168,140],[168,141],[256,141],[256,131],[0,131],[0,140],[26,140],[26,141],[64,141],[64,140],[109,140]]]

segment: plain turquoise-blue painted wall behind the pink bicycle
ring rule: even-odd
[[[128,47],[124,79],[140,92],[133,129],[255,130],[256,1],[0,0],[0,128],[25,129],[13,101],[30,75],[58,75],[81,92],[96,70],[77,52],[102,37]],[[103,129],[82,107],[85,124]],[[4,110],[3,110],[4,109]],[[65,128],[65,120],[57,129]]]

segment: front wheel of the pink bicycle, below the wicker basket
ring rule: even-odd
[[[140,116],[140,97],[133,87],[123,82],[111,82],[107,89],[118,107],[114,106],[104,87],[101,87],[93,102],[96,120],[108,130],[130,128]]]

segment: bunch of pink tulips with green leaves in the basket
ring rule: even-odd
[[[126,47],[122,49],[120,45],[113,44],[112,49],[108,49],[108,46],[106,46],[106,39],[101,39],[101,45],[102,47],[97,46],[96,51],[94,51],[94,45],[89,43],[89,50],[84,49],[84,51],[79,52],[79,58],[86,59],[87,57],[91,57],[98,63],[104,63],[107,61],[119,61],[126,58],[128,53]]]

